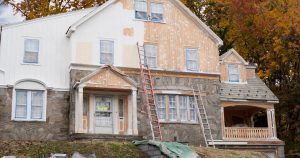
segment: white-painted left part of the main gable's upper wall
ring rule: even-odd
[[[125,36],[123,30],[130,28],[133,36]],[[134,11],[123,9],[121,2],[105,8],[97,15],[80,25],[72,34],[72,63],[80,63],[76,46],[89,43],[92,48],[86,51],[89,64],[100,65],[100,40],[109,39],[115,43],[114,65],[138,67],[136,43],[144,41],[144,22],[134,19]],[[133,49],[126,49],[133,48]],[[130,57],[133,63],[124,63]],[[84,60],[87,61],[87,60]]]

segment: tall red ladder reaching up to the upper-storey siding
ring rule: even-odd
[[[152,75],[150,67],[147,63],[147,55],[145,53],[144,45],[140,45],[139,43],[137,43],[137,49],[139,54],[140,73],[142,77],[143,90],[145,94],[145,104],[147,107],[152,139],[162,141],[160,122],[156,112]]]

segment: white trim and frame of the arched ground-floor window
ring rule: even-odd
[[[24,80],[24,81],[20,81],[20,82],[17,82],[17,83],[21,83],[21,82],[37,82],[35,80]],[[44,86],[44,84],[40,83],[40,82],[37,82],[38,84],[41,84]],[[15,114],[16,114],[16,90],[26,90],[26,91],[43,91],[43,117],[42,119],[32,119],[31,117],[31,105],[26,105],[27,107],[27,118],[16,118]],[[28,103],[28,102],[27,102]],[[28,109],[30,109],[28,111]],[[18,88],[16,86],[14,86],[13,88],[13,95],[12,95],[12,110],[11,110],[11,120],[13,121],[25,121],[25,122],[30,122],[30,121],[39,121],[39,122],[46,122],[46,119],[47,119],[47,116],[46,116],[46,113],[47,113],[47,88],[45,87],[45,89],[30,89],[30,88]]]

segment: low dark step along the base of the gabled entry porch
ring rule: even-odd
[[[142,140],[142,136],[118,135],[118,134],[88,134],[74,133],[69,135],[70,140],[105,140],[105,141],[133,141]]]

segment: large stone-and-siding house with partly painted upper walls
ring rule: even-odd
[[[2,140],[150,138],[138,42],[165,141],[203,145],[198,86],[217,147],[284,157],[276,96],[235,50],[219,57],[222,40],[179,0],[109,0],[1,28]]]

